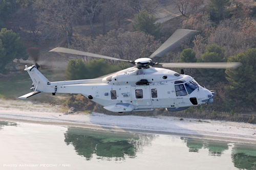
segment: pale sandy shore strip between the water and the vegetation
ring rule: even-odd
[[[102,113],[64,114],[60,110],[61,108],[58,106],[0,99],[0,120],[256,143],[256,125],[247,123],[216,120],[199,121],[191,118],[180,120],[179,117],[166,116],[112,116]]]

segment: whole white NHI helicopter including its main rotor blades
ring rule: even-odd
[[[33,83],[32,92],[20,96],[27,99],[40,92],[82,94],[112,112],[150,111],[166,108],[168,111],[180,111],[189,106],[212,103],[214,91],[200,86],[194,78],[173,70],[153,67],[172,68],[236,68],[240,63],[157,63],[152,59],[162,57],[180,45],[186,37],[197,34],[195,30],[177,30],[149,58],[135,61],[117,59],[69,48],[56,47],[50,52],[90,56],[135,64],[112,75],[100,79],[50,82],[38,70],[38,65],[25,65]]]

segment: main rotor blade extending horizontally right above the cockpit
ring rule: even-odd
[[[216,68],[216,69],[226,69],[226,68],[237,68],[242,65],[240,62],[229,62],[229,63],[159,63],[163,67],[171,68]]]

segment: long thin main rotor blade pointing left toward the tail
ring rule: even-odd
[[[99,54],[82,52],[82,51],[73,50],[73,49],[69,49],[69,48],[63,48],[63,47],[56,47],[49,52],[75,54],[75,55],[81,55],[81,56],[97,57],[97,58],[104,58],[104,59],[109,59],[109,60],[117,60],[117,61],[124,61],[124,62],[132,63],[132,61],[130,61],[130,60],[123,60],[123,59],[118,59],[118,58],[114,58],[114,57],[108,57],[108,56],[103,56],[103,55],[99,55]]]

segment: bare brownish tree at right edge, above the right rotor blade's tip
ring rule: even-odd
[[[255,47],[256,27],[250,19],[225,19],[208,34],[209,44],[225,47],[226,58]]]

